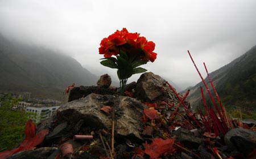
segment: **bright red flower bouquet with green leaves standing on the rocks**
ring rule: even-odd
[[[153,52],[155,43],[139,35],[139,33],[129,33],[126,28],[122,31],[117,30],[108,38],[103,38],[98,49],[100,54],[104,54],[102,59],[105,59],[101,61],[101,65],[117,68],[122,95],[128,78],[133,74],[147,71],[138,66],[148,61],[154,62],[156,59],[156,53]]]

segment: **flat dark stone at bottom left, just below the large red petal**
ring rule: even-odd
[[[46,159],[56,151],[57,151],[57,148],[55,147],[43,147],[43,148],[38,148],[30,151],[20,151],[7,158],[8,159],[27,159],[27,158]]]

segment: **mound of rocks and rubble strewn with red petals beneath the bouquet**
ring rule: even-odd
[[[126,96],[110,87],[72,87],[53,117],[38,124],[38,133],[49,131],[44,140],[8,158],[232,159],[256,154],[256,135],[249,126],[233,123],[237,128],[214,134],[204,125],[206,118],[196,118],[185,96],[152,72],[128,84]]]

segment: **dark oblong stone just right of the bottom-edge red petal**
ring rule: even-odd
[[[194,136],[191,131],[182,127],[174,131],[174,135],[176,135],[178,141],[189,149],[197,149],[202,143],[199,137]]]

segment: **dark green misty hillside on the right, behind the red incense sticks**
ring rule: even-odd
[[[241,109],[245,113],[256,110],[256,46],[228,65],[210,73],[222,104],[228,109]],[[205,78],[211,88],[208,78]],[[203,82],[190,88],[188,100],[193,108],[202,105],[200,86]],[[205,95],[208,93],[205,91]],[[209,97],[206,96],[209,103]]]

